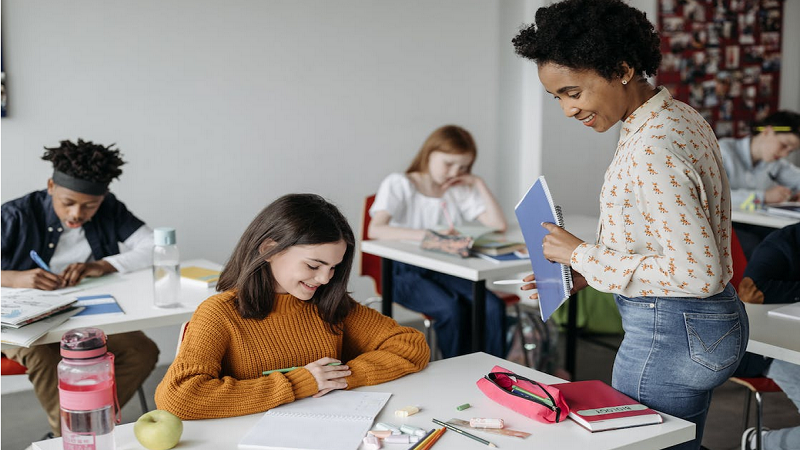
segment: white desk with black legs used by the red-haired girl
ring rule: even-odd
[[[522,241],[519,230],[509,231],[511,240]],[[486,284],[487,278],[515,276],[530,272],[530,260],[486,261],[477,257],[458,256],[422,250],[418,242],[369,240],[361,242],[361,251],[381,257],[381,292],[384,315],[392,316],[392,263],[399,261],[428,270],[463,278],[472,282],[472,349],[483,350],[486,328]]]

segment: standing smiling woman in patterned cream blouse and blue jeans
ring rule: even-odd
[[[648,82],[661,61],[660,38],[621,0],[539,8],[513,43],[536,62],[568,118],[599,133],[621,124],[600,191],[598,241],[543,224],[542,251],[572,267],[576,290],[588,283],[615,295],[625,337],[613,387],[695,423],[695,438],[672,448],[698,449],[712,391],[736,369],[749,336],[728,282],[730,188],[714,132]]]

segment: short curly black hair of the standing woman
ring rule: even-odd
[[[536,11],[536,22],[512,40],[537,64],[593,70],[607,80],[624,73],[655,75],[660,39],[645,14],[621,0],[565,0]]]

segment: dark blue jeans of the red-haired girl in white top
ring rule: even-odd
[[[444,358],[472,352],[472,282],[395,261],[394,301],[433,319]],[[505,357],[505,304],[486,291],[486,353]]]

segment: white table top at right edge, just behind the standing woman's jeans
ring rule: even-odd
[[[750,321],[747,351],[800,364],[800,321],[767,314],[769,310],[781,306],[784,305],[745,303]]]

